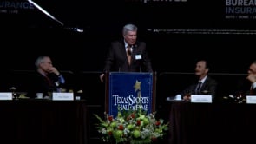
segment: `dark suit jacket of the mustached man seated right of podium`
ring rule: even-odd
[[[196,94],[195,89],[197,87],[197,84],[198,84],[198,80],[195,81],[190,86],[188,86],[185,90],[183,90],[181,92],[181,95],[182,96],[187,94],[195,95]],[[218,85],[217,81],[208,75],[206,81],[202,84],[198,95],[212,95],[213,98],[215,98],[215,95],[217,92],[217,85]]]

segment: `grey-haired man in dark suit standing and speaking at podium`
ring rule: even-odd
[[[146,43],[137,41],[137,29],[134,24],[125,25],[122,29],[123,39],[111,43],[100,75],[101,82],[105,73],[110,71],[153,72]]]

